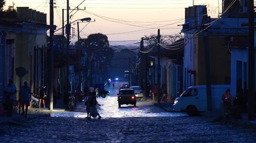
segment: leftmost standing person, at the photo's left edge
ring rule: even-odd
[[[16,92],[17,92],[16,86],[13,85],[12,79],[9,79],[8,85],[4,87],[4,94],[5,94],[6,106],[7,106],[7,116],[12,116],[13,102],[15,100]]]

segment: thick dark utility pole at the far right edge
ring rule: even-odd
[[[248,18],[249,18],[249,52],[248,52],[248,120],[254,120],[254,1],[248,1]]]

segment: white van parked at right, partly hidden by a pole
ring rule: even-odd
[[[212,85],[212,109],[220,110],[222,95],[230,85]],[[174,111],[186,111],[188,115],[197,115],[199,112],[207,111],[206,86],[191,86],[185,90],[180,97],[174,100]]]

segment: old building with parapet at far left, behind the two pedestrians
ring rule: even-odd
[[[46,85],[47,80],[49,26],[46,24],[46,14],[29,7],[17,7],[17,17],[1,19],[0,25],[0,61],[3,66],[0,68],[0,89],[6,85],[7,79],[11,78],[18,90],[21,81],[27,80],[31,91],[38,92],[38,87]],[[27,71],[22,78],[18,77],[15,70],[19,67]]]

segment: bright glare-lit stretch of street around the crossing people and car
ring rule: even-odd
[[[111,117],[154,117],[154,116],[187,116],[186,113],[171,113],[154,106],[151,102],[137,101],[137,107],[122,105],[118,108],[117,92],[124,82],[116,82],[115,87],[110,86],[110,95],[106,98],[97,98],[99,104],[98,112],[103,118]],[[86,117],[84,102],[78,103],[74,112],[53,113],[54,117]]]

